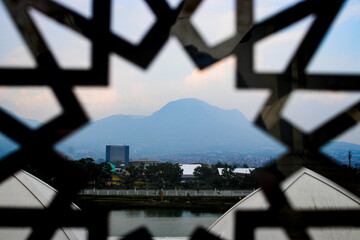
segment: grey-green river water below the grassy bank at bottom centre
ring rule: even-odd
[[[110,236],[125,236],[146,226],[153,237],[188,237],[201,226],[207,229],[223,213],[179,209],[127,209],[110,214]]]

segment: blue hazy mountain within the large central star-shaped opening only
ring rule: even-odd
[[[131,158],[176,154],[266,152],[285,148],[265,135],[238,110],[224,110],[197,99],[166,104],[147,117],[113,115],[78,131],[57,149],[78,158],[105,158],[105,145],[130,145]]]

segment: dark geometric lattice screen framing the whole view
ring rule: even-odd
[[[175,9],[170,8],[165,0],[146,0],[145,3],[157,19],[136,46],[110,31],[110,0],[93,0],[91,19],[86,19],[65,6],[47,0],[4,0],[3,2],[32,56],[36,59],[37,67],[0,68],[0,85],[48,86],[63,112],[41,128],[31,130],[0,109],[0,131],[21,145],[18,151],[0,162],[0,182],[21,168],[31,165],[41,171],[51,172],[59,186],[58,194],[46,210],[0,209],[3,219],[0,220],[1,226],[31,226],[33,231],[28,239],[51,239],[59,227],[86,227],[89,230],[89,239],[106,239],[106,211],[71,210],[71,201],[85,185],[86,176],[58,155],[53,150],[53,146],[89,121],[72,91],[74,86],[107,86],[110,53],[118,54],[139,67],[147,68],[169,36],[175,36],[180,40],[184,50],[200,69],[233,54],[237,57],[238,88],[267,88],[272,91],[270,99],[257,117],[256,124],[285,143],[289,152],[286,156],[276,159],[259,177],[270,203],[270,209],[265,212],[238,212],[236,231],[242,231],[244,226],[248,228],[245,229],[245,235],[240,236],[236,233],[236,239],[253,239],[253,230],[258,226],[282,226],[290,239],[309,239],[305,232],[307,226],[353,225],[347,220],[351,218],[357,219],[355,225],[358,226],[360,215],[357,211],[296,211],[290,207],[279,188],[283,179],[304,166],[360,195],[358,179],[354,179],[351,172],[318,151],[324,143],[360,120],[360,103],[343,111],[311,134],[301,132],[283,120],[280,115],[288,96],[296,89],[360,89],[359,76],[356,75],[309,75],[305,72],[306,66],[344,4],[344,0],[328,1],[326,6],[321,0],[301,1],[258,24],[252,23],[252,0],[236,0],[237,33],[213,47],[207,46],[190,22],[190,17],[201,0],[181,1]],[[46,41],[29,17],[30,7],[83,35],[92,43],[89,70],[64,70],[59,67]],[[315,16],[315,20],[286,70],[281,74],[254,73],[252,52],[255,43],[310,14]],[[53,165],[57,166],[55,170],[51,168]],[[337,217],[331,217],[334,215]],[[340,215],[341,218],[338,217]],[[244,217],[249,221],[242,225],[241,219]],[[262,221],[255,221],[259,218]],[[314,219],[318,221],[315,222]],[[142,238],[151,239],[146,229],[130,233],[125,239]],[[218,238],[199,229],[192,239]]]

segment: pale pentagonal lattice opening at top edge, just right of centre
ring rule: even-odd
[[[191,22],[209,46],[236,34],[234,0],[205,0],[191,17]]]

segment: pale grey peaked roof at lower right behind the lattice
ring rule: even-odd
[[[302,168],[281,184],[289,204],[297,210],[315,209],[358,209],[360,199],[329,179]],[[222,239],[233,239],[235,212],[237,210],[266,210],[269,204],[261,189],[258,189],[238,202],[221,216],[209,231]],[[309,228],[314,239],[360,239],[360,231],[354,228],[319,229]],[[257,229],[256,239],[288,239],[283,229]]]

